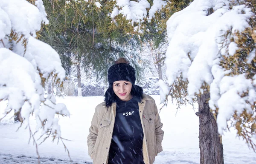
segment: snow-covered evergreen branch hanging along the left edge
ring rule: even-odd
[[[53,76],[62,85],[64,68],[58,53],[35,37],[41,24],[47,24],[42,0],[3,0],[0,3],[0,101],[6,101],[5,114],[20,113],[20,121],[34,132],[29,118],[37,121],[35,132],[62,139],[56,115],[70,116],[67,107],[56,104],[53,95],[44,97],[44,82]],[[39,154],[38,154],[39,156]]]

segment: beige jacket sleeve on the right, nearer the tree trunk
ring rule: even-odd
[[[156,116],[155,119],[155,132],[156,132],[156,141],[157,141],[157,154],[163,151],[162,141],[163,141],[163,123],[160,120],[160,116],[158,114],[157,105],[154,102],[154,114]]]

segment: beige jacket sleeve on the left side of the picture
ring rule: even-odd
[[[99,117],[98,117],[97,111],[95,110],[95,113],[93,115],[93,119],[91,122],[91,126],[89,128],[89,135],[87,137],[88,155],[90,156],[90,158],[93,158],[93,150],[94,150],[94,146],[98,136],[98,131],[99,131],[98,122],[99,122]]]

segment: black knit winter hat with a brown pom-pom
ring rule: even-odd
[[[108,83],[112,85],[118,80],[127,80],[133,85],[135,84],[136,76],[134,68],[129,65],[128,60],[123,57],[117,59],[116,64],[108,69]]]

